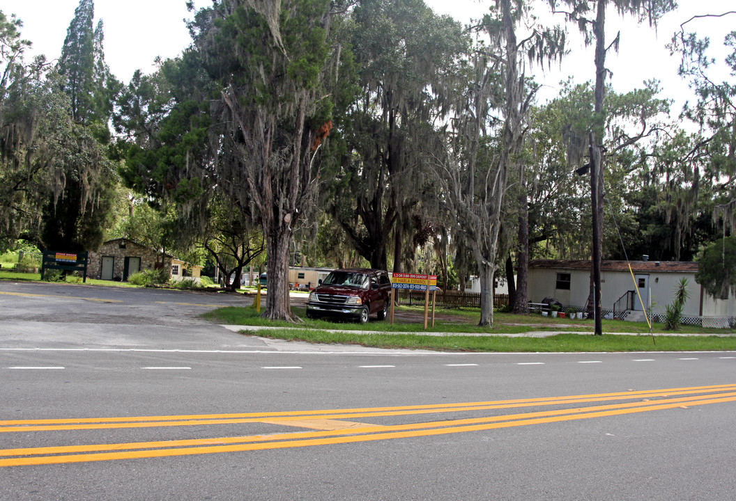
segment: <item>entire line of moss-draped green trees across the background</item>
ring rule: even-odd
[[[501,275],[526,311],[535,258],[699,259],[710,293],[735,292],[736,90],[710,71],[736,70],[736,32],[724,62],[687,23],[673,34],[696,90],[676,110],[659,82],[612,90],[605,38],[606,15],[654,26],[673,0],[495,0],[467,26],[422,0],[190,8],[191,44],[130,82],[92,0],[56,62],[26,60],[0,12],[4,248],[128,237],[227,277],[263,259],[272,319],[297,320],[289,264],[478,275],[481,325]],[[540,103],[529,68],[575,57],[572,29],[595,49],[590,80]]]

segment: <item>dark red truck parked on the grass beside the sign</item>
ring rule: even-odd
[[[391,279],[383,270],[333,270],[310,293],[307,318],[347,317],[365,323],[370,314],[378,313],[378,320],[383,320],[390,295]]]

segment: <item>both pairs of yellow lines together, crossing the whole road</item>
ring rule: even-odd
[[[680,396],[687,395],[687,396]],[[658,399],[658,400],[650,400]],[[388,408],[355,408],[301,413],[272,412],[247,414],[212,414],[197,416],[119,417],[108,419],[40,419],[0,421],[0,432],[38,430],[78,430],[99,428],[139,428],[143,426],[185,426],[269,422],[304,426],[305,422],[345,417],[386,417],[397,415],[438,414],[447,412],[481,411],[528,406],[559,406],[570,403],[594,403],[611,400],[636,400],[602,406],[574,407],[551,411],[536,411],[503,416],[450,419],[405,425],[357,425],[337,430],[321,430],[272,435],[236,436],[215,439],[130,442],[122,444],[91,444],[60,447],[30,447],[0,450],[0,466],[61,464],[83,461],[110,461],[132,458],[155,458],[177,455],[230,453],[248,450],[310,447],[314,445],[347,444],[351,442],[401,439],[418,436],[445,435],[468,431],[512,428],[550,422],[592,419],[637,412],[688,408],[712,403],[736,401],[736,384],[695,386],[641,392],[577,395],[521,400],[498,400],[478,403],[453,403],[439,406],[401,406]],[[295,424],[295,423],[299,424]],[[74,424],[76,423],[76,424]],[[308,425],[308,424],[307,424]]]

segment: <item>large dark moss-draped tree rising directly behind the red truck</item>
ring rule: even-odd
[[[341,97],[353,95],[338,103],[335,120],[345,151],[326,165],[322,197],[350,246],[385,269],[392,230],[411,242],[414,216],[428,210],[423,159],[440,148],[434,122],[450,109],[470,40],[420,0],[360,2],[352,22],[353,66],[342,73]]]

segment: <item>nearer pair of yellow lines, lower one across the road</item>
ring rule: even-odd
[[[218,444],[207,445],[205,447],[185,447],[179,449],[158,449],[158,450],[127,450],[124,452],[108,452],[108,453],[90,453],[77,455],[57,455],[57,456],[36,456],[29,458],[7,458],[0,459],[0,466],[21,466],[30,464],[62,464],[85,461],[110,461],[131,458],[153,458],[166,457],[175,455],[195,455],[195,454],[212,454],[239,452],[246,450],[272,450],[287,447],[309,447],[313,445],[326,444],[347,444],[350,442],[375,441],[387,439],[409,438],[417,436],[434,436],[449,433],[464,433],[468,431],[492,430],[498,428],[512,428],[516,426],[537,425],[550,422],[571,421],[576,419],[591,419],[594,417],[608,417],[621,414],[634,414],[646,411],[658,411],[682,407],[682,403],[687,406],[701,406],[712,403],[726,403],[736,401],[736,393],[726,395],[711,395],[708,397],[687,397],[680,399],[668,400],[665,403],[657,401],[646,401],[640,403],[625,403],[612,406],[598,406],[592,408],[568,409],[566,411],[548,411],[542,413],[516,414],[512,416],[500,416],[490,418],[462,419],[431,423],[415,423],[410,425],[396,426],[369,426],[366,428],[355,428],[347,430],[337,430],[333,432],[312,432],[312,433],[289,433],[283,435],[270,436],[250,436],[250,437],[233,437],[225,439],[199,439],[190,441],[163,441],[163,442],[142,442],[138,444],[112,444],[112,445],[93,445],[93,446],[70,446],[70,447],[38,447],[34,449],[17,449],[17,450],[0,450],[0,455],[30,455],[30,454],[54,454],[68,452],[90,452],[93,450],[116,450],[116,449],[132,449],[145,447],[172,447],[177,445],[193,445],[193,444]],[[565,414],[561,414],[565,413]],[[573,413],[573,414],[570,414]],[[545,416],[546,414],[546,416]],[[509,420],[516,419],[516,420]],[[502,421],[502,422],[498,422]],[[470,424],[480,423],[480,424]],[[448,427],[449,426],[449,427]],[[446,428],[438,428],[446,427]],[[412,430],[412,428],[414,428]],[[421,428],[421,429],[417,429]],[[367,435],[355,435],[355,433],[371,433]],[[321,434],[331,433],[332,436],[318,438]],[[340,436],[350,433],[350,436]],[[263,440],[278,441],[263,441]],[[299,440],[294,440],[299,439]],[[219,445],[227,442],[238,441],[238,444]],[[243,443],[243,442],[259,441],[259,443]]]

